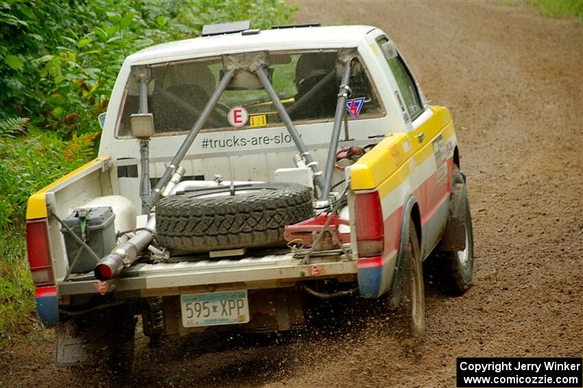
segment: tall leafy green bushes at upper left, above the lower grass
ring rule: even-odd
[[[32,0],[0,2],[0,111],[31,117],[64,136],[99,130],[123,59],[144,47],[191,38],[202,25],[250,19],[285,23],[281,0]]]

